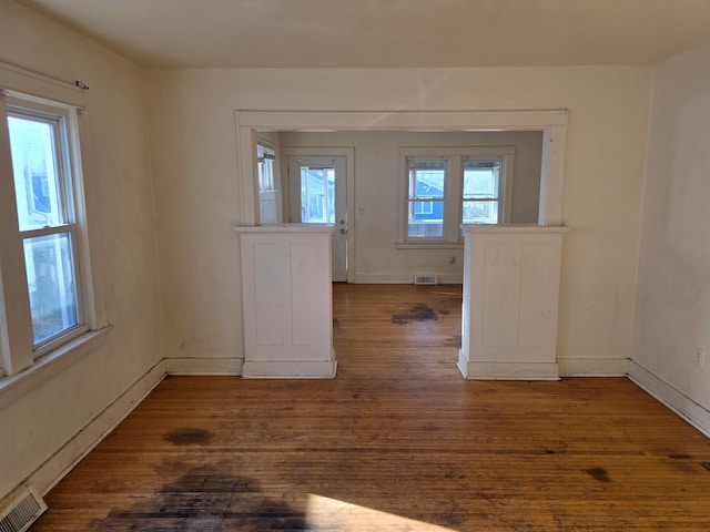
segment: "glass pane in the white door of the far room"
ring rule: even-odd
[[[301,222],[335,223],[335,168],[301,166]]]

